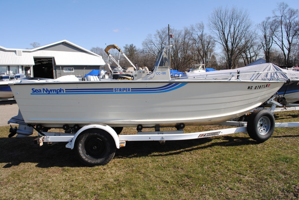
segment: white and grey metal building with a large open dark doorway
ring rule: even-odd
[[[0,72],[25,73],[26,77],[58,78],[84,76],[102,69],[103,58],[67,40],[33,49],[10,49],[0,46]]]

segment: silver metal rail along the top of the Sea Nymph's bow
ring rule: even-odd
[[[217,74],[215,76],[213,76],[211,74],[198,75],[198,76],[202,76],[202,77],[194,76],[192,79],[206,79],[206,78],[217,78],[217,77],[227,76],[227,79],[231,80],[234,76],[240,76],[240,75],[246,75],[246,74],[256,74],[255,76],[252,76],[252,78],[250,79],[250,80],[253,81],[253,80],[257,80],[257,78],[260,77],[260,75],[263,74],[263,73],[274,73],[270,77],[269,81],[273,80],[273,78],[276,74],[286,74],[286,72],[283,72],[283,71],[255,71],[255,72],[245,72],[245,73],[230,72],[230,73],[220,73],[220,74]],[[238,78],[238,80],[241,80],[241,79]]]

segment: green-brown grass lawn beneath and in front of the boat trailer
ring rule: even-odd
[[[299,122],[299,112],[277,112],[275,119]],[[36,133],[7,138],[9,126],[1,126],[0,199],[298,199],[298,130],[275,128],[263,143],[243,133],[127,142],[109,164],[85,167],[66,143],[39,147]]]

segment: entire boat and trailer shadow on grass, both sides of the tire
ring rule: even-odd
[[[18,166],[22,163],[36,163],[36,167],[85,167],[74,156],[66,143],[53,146],[44,144],[39,147],[33,143],[36,136],[26,138],[0,138],[0,163],[7,163],[3,168]],[[161,145],[158,141],[127,142],[125,147],[116,150],[115,158],[134,158],[142,156],[177,155],[196,149],[206,149],[212,146],[240,146],[257,144],[246,137],[221,136],[221,141],[213,142],[213,138],[202,138],[183,141],[166,141]],[[215,140],[216,141],[216,140]],[[212,142],[212,143],[211,143]],[[155,155],[152,155],[155,153]]]

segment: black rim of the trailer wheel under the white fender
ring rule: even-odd
[[[97,137],[88,138],[84,142],[84,152],[86,156],[92,159],[102,158],[106,153],[107,145]]]

